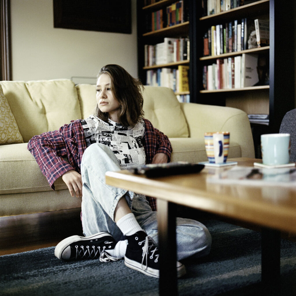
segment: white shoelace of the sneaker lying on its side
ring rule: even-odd
[[[111,243],[111,242],[105,242],[105,243]],[[98,258],[101,262],[109,262],[110,260],[112,261],[117,261],[118,258],[112,257],[110,254],[108,254],[105,249],[106,246],[104,246],[101,250],[101,247],[98,246],[97,250],[95,246],[86,246],[86,250],[84,250],[84,246],[81,246],[81,250],[78,250],[78,245],[75,245],[76,248],[76,259],[81,258],[81,259],[94,259]]]

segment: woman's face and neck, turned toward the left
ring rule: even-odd
[[[96,83],[96,102],[101,112],[108,113],[109,118],[118,122],[118,111],[120,104],[111,91],[111,78],[102,74]]]

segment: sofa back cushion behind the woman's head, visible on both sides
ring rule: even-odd
[[[78,84],[76,88],[82,117],[86,118],[96,107],[96,86]],[[172,89],[145,86],[143,98],[144,117],[150,120],[155,128],[170,138],[189,136],[184,113]]]

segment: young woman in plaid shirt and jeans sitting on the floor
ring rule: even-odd
[[[149,205],[141,194],[105,184],[107,171],[170,161],[168,137],[142,117],[141,90],[139,80],[122,67],[106,65],[98,74],[95,114],[28,143],[53,189],[61,176],[72,196],[82,196],[85,237],[62,240],[55,248],[59,259],[124,258],[126,266],[159,276],[155,204]],[[177,218],[176,224],[178,260],[209,253],[211,236],[202,223]],[[185,273],[177,262],[178,276]]]

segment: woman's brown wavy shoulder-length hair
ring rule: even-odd
[[[143,84],[137,78],[133,78],[123,67],[119,65],[106,65],[101,68],[97,78],[102,74],[109,75],[111,79],[111,91],[118,100],[120,110],[118,120],[123,126],[135,126],[143,111]],[[96,116],[107,122],[109,114],[102,112],[96,106]]]

